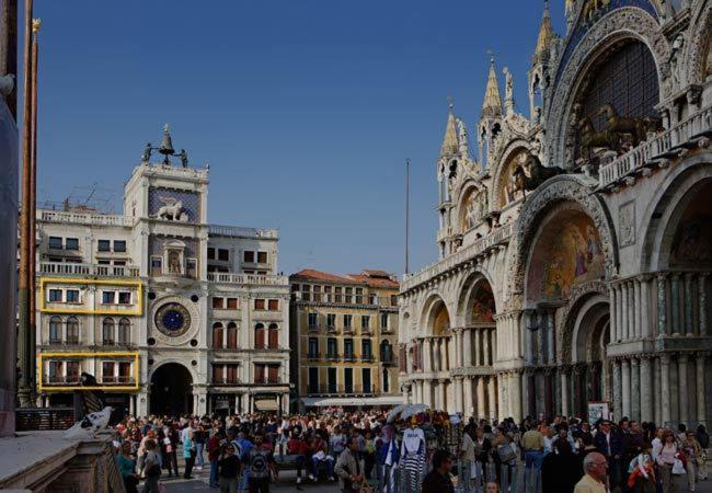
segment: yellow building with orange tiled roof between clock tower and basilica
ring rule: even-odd
[[[400,403],[399,283],[383,271],[337,275],[303,270],[289,284],[297,408]]]

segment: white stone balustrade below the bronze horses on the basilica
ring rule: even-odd
[[[712,128],[712,106],[700,110],[682,122],[673,126],[657,136],[641,142],[600,168],[598,184],[601,188],[608,187],[620,179],[633,174],[659,159],[677,156],[675,149],[682,149],[685,145],[697,136],[710,133]]]

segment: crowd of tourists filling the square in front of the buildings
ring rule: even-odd
[[[400,445],[387,416],[127,416],[116,426],[115,446],[127,493],[159,492],[162,479],[191,479],[195,470],[209,470],[210,488],[221,493],[263,493],[285,468],[296,470],[298,489],[338,481],[345,493],[416,493],[389,473]],[[470,419],[461,426],[457,449],[427,450],[423,493],[453,492],[456,484],[464,493],[670,493],[696,491],[707,480],[702,425],[688,431],[556,416]]]

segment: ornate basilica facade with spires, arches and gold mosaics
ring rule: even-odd
[[[404,398],[709,424],[712,2],[567,0],[561,36],[547,9],[528,114],[494,60],[476,146],[450,106],[439,260],[399,295]]]

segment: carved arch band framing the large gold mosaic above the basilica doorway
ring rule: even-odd
[[[517,232],[509,245],[508,298],[512,309],[524,305],[527,265],[539,226],[549,213],[565,203],[574,203],[586,214],[600,238],[606,278],[618,271],[618,242],[609,210],[604,200],[592,193],[597,182],[581,175],[559,175],[537,188],[525,203],[519,215]]]

